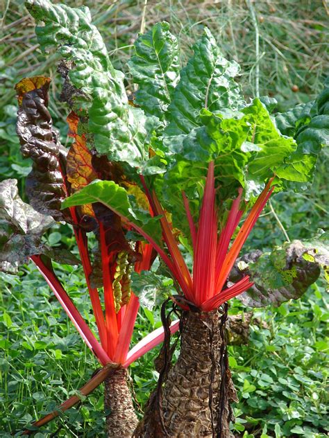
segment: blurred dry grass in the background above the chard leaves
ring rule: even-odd
[[[328,8],[325,1],[69,0],[65,3],[90,7],[113,62],[124,71],[137,33],[160,20],[169,21],[173,33],[178,35],[183,62],[203,26],[208,26],[224,55],[241,64],[241,81],[246,95],[256,94],[256,82],[259,81],[260,94],[276,97],[281,107],[303,102],[317,94],[328,71]],[[7,92],[2,98],[2,103],[6,104],[12,98],[10,87],[14,81],[35,73],[53,77],[56,63],[53,56],[44,58],[40,54],[33,19],[21,1],[8,1],[1,23],[0,79],[6,85]],[[259,30],[259,53],[255,51],[255,26]],[[9,76],[8,82],[6,76]],[[56,87],[53,92],[56,93]]]

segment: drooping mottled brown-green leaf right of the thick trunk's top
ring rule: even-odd
[[[294,240],[276,247],[271,253],[257,251],[238,259],[230,272],[230,281],[249,275],[254,282],[239,299],[251,307],[280,306],[297,299],[317,281],[321,269],[328,277],[328,236],[305,242]]]

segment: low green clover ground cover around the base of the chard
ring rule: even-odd
[[[58,268],[70,296],[94,324],[81,270]],[[74,394],[98,364],[33,265],[19,276],[0,274],[0,282],[0,430],[1,437],[10,437]],[[279,437],[326,436],[329,303],[323,292],[315,286],[300,301],[257,310],[248,344],[229,347],[239,396],[233,425],[237,436],[266,438],[274,430]],[[235,300],[230,313],[244,310]],[[135,342],[159,325],[158,313],[141,310]],[[130,367],[137,409],[158,378],[155,356],[152,351]],[[72,408],[36,437],[55,436],[49,434],[56,431],[58,437],[102,437],[102,397],[101,388],[96,389],[80,408]]]

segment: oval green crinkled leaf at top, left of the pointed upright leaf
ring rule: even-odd
[[[135,103],[145,114],[165,119],[179,78],[178,41],[165,21],[157,23],[135,41],[128,67],[139,85]]]

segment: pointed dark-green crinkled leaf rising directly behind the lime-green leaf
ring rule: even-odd
[[[188,134],[202,125],[201,109],[220,112],[239,109],[245,105],[239,85],[234,77],[239,65],[229,62],[205,28],[203,36],[193,46],[194,55],[180,73],[180,81],[168,108],[168,136]]]

